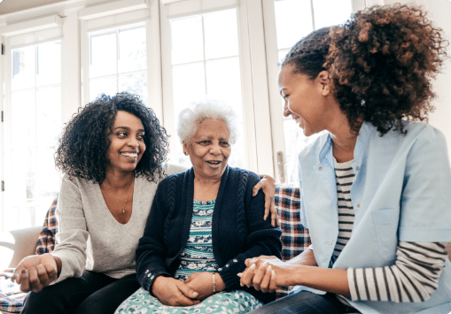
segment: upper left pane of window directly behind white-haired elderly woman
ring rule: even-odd
[[[173,65],[204,59],[201,16],[171,20],[171,38]]]

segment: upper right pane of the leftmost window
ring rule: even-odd
[[[37,47],[36,85],[61,82],[61,43],[47,42]]]

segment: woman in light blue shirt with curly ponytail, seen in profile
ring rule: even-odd
[[[278,75],[284,114],[307,136],[300,211],[312,246],[238,274],[262,291],[298,285],[253,313],[447,313],[451,173],[445,137],[424,123],[447,42],[424,11],[359,11],[307,35]]]

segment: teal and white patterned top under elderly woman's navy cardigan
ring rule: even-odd
[[[212,217],[214,201],[193,201],[190,237],[181,254],[175,279],[186,280],[194,272],[216,272],[212,245]]]

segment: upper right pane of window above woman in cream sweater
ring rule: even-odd
[[[119,28],[119,73],[143,70],[147,67],[145,27],[140,25]]]

